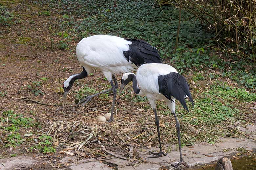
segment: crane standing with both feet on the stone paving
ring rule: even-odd
[[[164,100],[171,110],[175,122],[176,130],[178,134],[180,161],[176,165],[179,166],[183,162],[181,154],[181,139],[180,139],[180,123],[177,120],[175,114],[175,99],[179,100],[183,107],[188,111],[185,98],[189,98],[194,107],[194,102],[189,91],[189,85],[184,76],[179,74],[175,68],[167,64],[144,64],[140,66],[134,73],[125,73],[122,76],[121,87],[117,98],[120,96],[124,87],[131,82],[133,83],[133,90],[138,95],[145,95],[155,114],[155,123],[157,125],[157,134],[159,141],[159,153],[152,153],[156,157],[166,155],[162,151],[160,132],[159,132],[159,120],[156,112],[156,100]]]

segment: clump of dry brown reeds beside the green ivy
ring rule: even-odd
[[[195,16],[215,33],[219,47],[256,62],[256,0],[159,0]]]

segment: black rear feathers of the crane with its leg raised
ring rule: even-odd
[[[145,63],[162,63],[158,50],[149,43],[139,39],[126,39],[132,42],[129,51],[123,51],[127,61],[132,61],[140,66]]]

